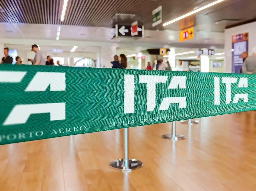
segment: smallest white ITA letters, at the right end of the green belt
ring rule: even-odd
[[[231,84],[237,83],[238,78],[222,77],[222,83],[226,84],[226,104],[231,102]],[[248,87],[248,78],[240,78],[238,88]],[[248,102],[248,94],[235,94],[233,103],[238,103],[239,99]],[[214,105],[220,105],[220,78],[214,77]]]

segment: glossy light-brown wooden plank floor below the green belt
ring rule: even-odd
[[[202,118],[185,140],[164,140],[170,123],[129,128],[129,156],[144,166],[111,169],[123,130],[0,146],[2,191],[256,190],[256,111]]]

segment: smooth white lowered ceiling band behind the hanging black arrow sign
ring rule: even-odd
[[[111,28],[61,25],[60,39],[56,40],[59,25],[0,23],[0,43],[4,44],[40,44],[61,46],[98,46],[98,47],[142,47],[160,48],[223,48],[224,34],[221,32],[198,31],[193,39],[179,42],[179,31],[145,30],[145,38],[111,39]],[[215,48],[215,49],[216,49]]]

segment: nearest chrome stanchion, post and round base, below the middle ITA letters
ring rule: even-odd
[[[128,128],[124,128],[124,159],[115,160],[110,163],[110,166],[126,172],[131,172],[143,166],[140,160],[128,159]]]

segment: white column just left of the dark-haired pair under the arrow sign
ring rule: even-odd
[[[111,61],[114,61],[114,55],[116,54],[116,47],[101,47],[100,65],[101,68],[112,68]]]

